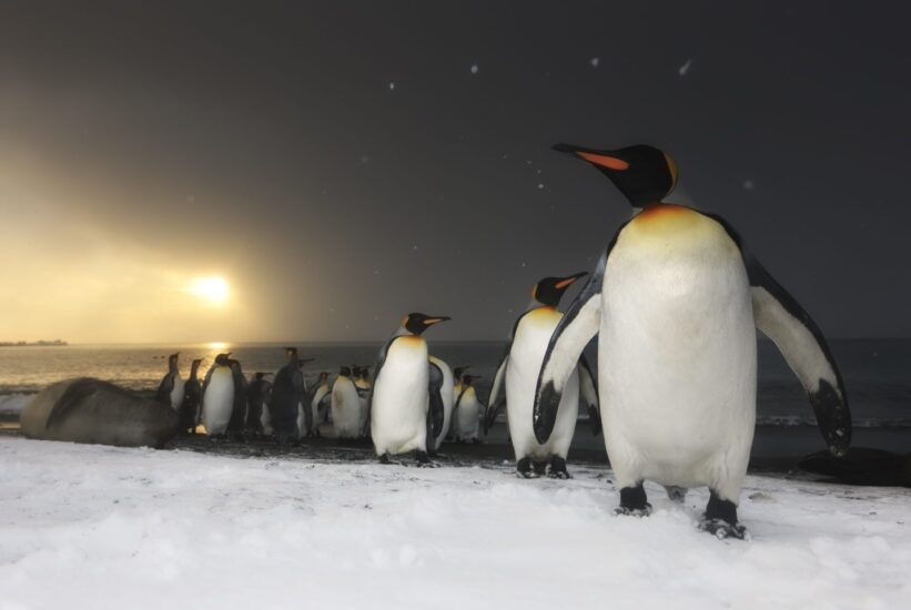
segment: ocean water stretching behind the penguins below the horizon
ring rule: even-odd
[[[168,369],[168,355],[181,352],[181,372],[203,358],[201,376],[220,352],[231,350],[247,376],[275,372],[284,364],[284,345],[296,345],[308,379],[320,372],[331,375],[342,365],[372,366],[379,343],[358,344],[196,344],[196,345],[71,345],[0,347],[0,411],[14,410],[24,396],[71,377],[107,379],[139,393],[152,393]],[[830,343],[841,368],[854,421],[854,446],[911,451],[911,339],[841,339]],[[451,366],[470,365],[483,376],[477,384],[486,398],[503,354],[502,342],[431,342],[434,355]],[[595,349],[589,347],[590,362]],[[502,427],[500,427],[502,428]],[[495,429],[490,443],[505,443],[505,430]],[[601,447],[581,423],[574,447]],[[759,399],[755,454],[803,455],[824,448],[816,430],[812,408],[799,382],[768,340],[759,343]]]

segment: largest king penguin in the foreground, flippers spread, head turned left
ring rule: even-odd
[[[535,435],[544,443],[554,430],[575,363],[597,334],[617,512],[649,512],[646,479],[707,486],[700,529],[743,538],[737,506],[756,420],[756,328],[781,350],[829,450],[842,455],[851,416],[826,339],[723,218],[662,201],[677,182],[669,155],[646,145],[555,149],[607,175],[634,216],[554,332],[537,383]]]

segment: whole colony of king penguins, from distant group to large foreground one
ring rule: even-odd
[[[809,314],[747,250],[721,217],[668,201],[678,170],[648,145],[597,150],[554,146],[606,175],[631,217],[605,233],[595,270],[545,277],[516,319],[496,369],[487,406],[468,367],[452,369],[431,355],[424,333],[446,316],[407,315],[383,346],[373,375],[343,366],[330,384],[307,388],[293,347],[275,373],[250,380],[231,354],[220,354],[184,383],[179,354],[156,398],[178,410],[181,429],[242,438],[272,435],[297,443],[330,423],[336,438],[370,437],[381,462],[414,454],[418,466],[444,439],[477,443],[504,410],[516,474],[568,478],[566,458],[579,403],[605,448],[620,488],[617,515],[647,516],[642,482],[682,501],[708,487],[700,528],[718,538],[747,536],[737,519],[756,423],[756,329],[779,348],[809,396],[833,456],[851,440],[844,386],[822,333]],[[564,293],[588,279],[565,313]],[[583,350],[598,336],[597,368]]]

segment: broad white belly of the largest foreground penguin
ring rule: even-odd
[[[657,241],[624,230],[610,255],[598,339],[605,443],[621,486],[739,494],[756,420],[749,282],[727,233],[694,222]]]

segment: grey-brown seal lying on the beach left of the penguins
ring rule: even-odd
[[[20,417],[28,438],[121,447],[160,448],[178,431],[178,424],[179,415],[170,405],[88,377],[45,388]]]

